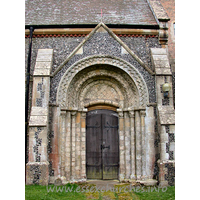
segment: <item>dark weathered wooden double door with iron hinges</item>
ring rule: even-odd
[[[86,117],[86,174],[88,179],[118,179],[118,114],[93,110]]]

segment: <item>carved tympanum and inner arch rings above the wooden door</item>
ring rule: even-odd
[[[91,104],[111,104],[120,108],[138,106],[137,88],[130,77],[111,67],[90,67],[71,82],[66,96],[69,108],[83,108]]]

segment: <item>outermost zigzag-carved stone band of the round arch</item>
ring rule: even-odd
[[[130,77],[130,81],[124,82],[126,83],[124,86],[125,89],[127,90],[128,88],[130,88],[127,83],[132,83],[138,95],[139,102],[137,106],[143,106],[143,107],[146,106],[146,104],[148,103],[148,90],[147,90],[146,83],[144,79],[142,78],[141,74],[138,72],[138,70],[134,66],[132,66],[130,63],[120,58],[113,57],[113,56],[106,56],[106,55],[98,55],[98,56],[86,57],[82,60],[79,60],[78,62],[74,63],[71,67],[67,69],[67,71],[61,78],[58,91],[57,91],[57,103],[61,105],[61,107],[66,107],[68,105],[67,96],[68,94],[70,94],[70,87],[73,86],[73,84],[71,84],[73,81],[77,82],[76,87],[74,87],[73,90],[79,91],[81,88],[81,85],[83,85],[87,81],[88,82],[92,81],[92,78],[91,78],[92,74],[93,76],[97,76],[98,74],[101,76],[105,76],[105,74],[103,74],[103,71],[105,72],[105,70],[101,70],[101,72],[99,73],[98,73],[98,70],[96,71],[93,70],[90,72],[91,73],[90,76],[85,76],[85,77],[77,76],[77,74],[83,71],[84,69],[90,68],[91,66],[97,66],[97,65],[98,66],[106,66],[106,65],[113,66],[116,69],[120,69],[121,71],[123,71],[124,76]],[[107,77],[109,76],[112,77],[111,74],[113,73],[114,72],[111,72],[109,75],[109,73],[107,72]],[[121,74],[115,75],[115,79],[116,80],[118,79],[117,81],[119,83],[121,83],[121,81],[119,80],[120,76]],[[78,81],[80,79],[82,81]],[[124,83],[121,83],[121,84],[124,85]],[[70,94],[70,96],[72,95]]]

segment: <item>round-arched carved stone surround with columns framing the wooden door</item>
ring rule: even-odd
[[[148,90],[132,65],[111,56],[78,61],[60,81],[57,104],[53,114],[53,123],[58,124],[54,129],[58,135],[55,176],[66,181],[87,179],[86,114],[95,107],[108,106],[116,108],[119,118],[119,180],[146,180],[153,176],[153,153],[150,159],[146,154],[149,141],[145,129],[154,126],[145,125]]]

